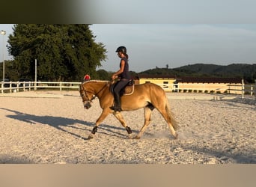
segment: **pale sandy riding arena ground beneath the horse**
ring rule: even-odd
[[[0,97],[0,163],[256,163],[254,97],[167,93],[180,125],[178,140],[154,110],[140,140],[127,139],[127,131],[109,115],[88,141],[102,111],[97,99],[85,110],[78,91],[11,94],[19,96]],[[122,114],[138,133],[143,109]]]

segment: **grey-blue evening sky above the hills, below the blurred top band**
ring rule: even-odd
[[[13,25],[0,24],[0,61],[3,45]],[[115,50],[126,46],[129,70],[137,73],[156,67],[181,67],[188,64],[256,63],[256,24],[93,24],[97,43],[107,49],[103,69],[116,71],[120,58]],[[4,38],[3,38],[4,37]],[[4,47],[5,59],[11,59]]]

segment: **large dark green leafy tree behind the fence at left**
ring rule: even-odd
[[[96,43],[89,25],[16,24],[8,51],[20,77],[46,81],[80,81],[85,73],[96,76],[106,59],[103,43]]]

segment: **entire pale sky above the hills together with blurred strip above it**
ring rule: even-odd
[[[106,46],[108,58],[99,69],[118,70],[118,46],[127,47],[129,70],[135,72],[256,63],[255,0],[76,0],[62,5],[67,22],[93,24],[96,42]],[[2,29],[12,33],[12,25],[0,24]],[[2,40],[0,35],[0,61],[3,51],[12,58]]]

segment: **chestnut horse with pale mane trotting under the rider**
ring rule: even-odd
[[[114,114],[122,126],[127,130],[129,138],[132,138],[132,130],[127,126],[121,111],[114,111],[110,108],[114,102],[114,96],[110,90],[111,85],[112,82],[99,80],[90,80],[79,85],[79,92],[82,97],[84,108],[91,108],[91,102],[97,97],[100,102],[100,107],[103,109],[91,134],[88,136],[88,140],[94,138],[98,126],[100,126],[100,123],[103,122],[109,114]],[[174,138],[177,138],[178,135],[176,130],[179,126],[172,117],[165,91],[159,85],[150,82],[134,85],[132,94],[121,96],[121,108],[122,111],[134,111],[139,108],[144,108],[144,125],[141,127],[138,134],[133,137],[134,139],[141,138],[141,135],[150,124],[151,112],[154,108],[162,114],[162,117],[168,123],[171,135],[173,135]]]

